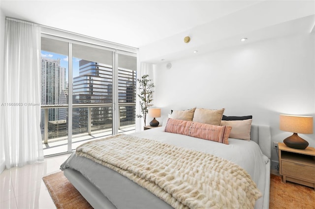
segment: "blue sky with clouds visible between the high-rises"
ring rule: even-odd
[[[46,51],[41,51],[41,56],[42,57],[47,57],[50,59],[58,59],[60,58],[60,65],[61,67],[65,68],[65,73],[66,73],[66,81],[68,82],[68,73],[69,73],[69,67],[68,67],[68,56],[65,56],[63,54],[59,54],[59,53],[54,53],[54,52],[46,52]],[[77,77],[79,76],[79,61],[81,59],[73,57],[73,72],[72,72],[72,76]]]

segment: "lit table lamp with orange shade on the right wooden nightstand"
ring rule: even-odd
[[[298,136],[298,133],[313,133],[313,117],[299,115],[280,115],[280,130],[293,132],[284,139],[284,144],[290,148],[304,150],[309,143]]]

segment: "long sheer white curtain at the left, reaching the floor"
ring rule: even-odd
[[[39,26],[6,19],[1,80],[0,138],[5,167],[42,161]]]

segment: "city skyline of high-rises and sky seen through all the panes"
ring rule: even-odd
[[[70,78],[73,90],[68,92],[68,56],[46,51],[41,51],[41,55],[42,104],[68,104],[69,98],[72,99],[72,104],[107,104],[99,107],[73,108],[72,134],[88,132],[88,114],[91,114],[92,131],[111,129],[113,124],[113,109],[111,105],[113,103],[113,66],[110,63],[101,64],[74,57],[72,62],[73,77]],[[84,57],[86,56],[84,55]],[[120,57],[121,60],[128,60],[126,55],[121,55]],[[119,62],[118,64],[119,104],[135,103],[136,71],[134,69],[125,69],[126,65],[124,63]],[[53,99],[48,101],[47,98]],[[42,108],[42,129],[43,121],[45,120],[44,111]],[[48,138],[66,136],[68,108],[49,108],[48,111]],[[134,125],[135,106],[121,105],[119,114],[120,124],[124,126]]]

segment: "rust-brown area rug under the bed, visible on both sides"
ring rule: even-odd
[[[57,209],[93,209],[65,178],[63,171],[43,177]],[[315,190],[297,183],[281,181],[270,174],[270,209],[314,209]]]

